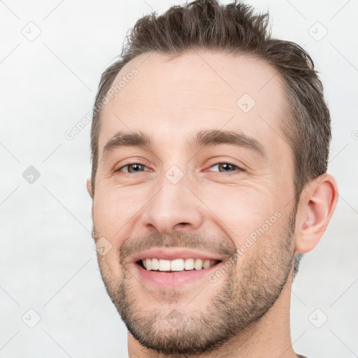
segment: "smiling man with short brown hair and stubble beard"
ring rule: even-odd
[[[338,192],[313,62],[267,21],[174,6],[103,73],[87,189],[129,357],[301,357],[290,288]]]

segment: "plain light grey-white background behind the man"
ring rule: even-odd
[[[340,199],[294,282],[294,349],[357,357],[358,1],[247,2],[269,9],[273,33],[312,55],[333,120],[329,173]],[[174,3],[0,1],[0,357],[127,357],[90,236],[90,124],[72,141],[64,133],[90,111],[127,30]],[[41,174],[33,183],[22,176],[29,166]]]

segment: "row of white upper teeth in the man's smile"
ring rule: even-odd
[[[159,271],[184,271],[184,270],[201,270],[201,268],[208,268],[213,266],[215,260],[202,260],[202,259],[174,259],[174,260],[163,260],[163,259],[142,259],[143,266],[149,270]]]

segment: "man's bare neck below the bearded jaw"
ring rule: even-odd
[[[275,304],[255,324],[224,343],[215,350],[203,352],[201,358],[297,358],[292,348],[289,329],[289,308],[291,299],[292,275]],[[143,347],[134,336],[128,334],[129,358],[164,358],[183,357],[183,355],[163,355]],[[185,357],[197,357],[185,355]]]

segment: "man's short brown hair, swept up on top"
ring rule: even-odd
[[[146,52],[176,57],[189,50],[216,50],[263,59],[280,73],[287,92],[289,120],[282,131],[294,153],[296,203],[306,183],[327,171],[331,120],[323,87],[310,55],[299,45],[268,31],[268,13],[237,0],[223,6],[216,0],[196,0],[172,6],[162,15],[139,19],[127,36],[120,59],[101,76],[91,129],[92,195],[98,166],[101,101],[127,62]]]

